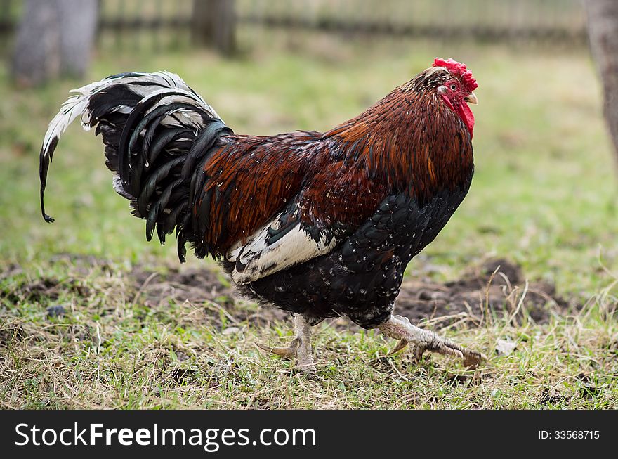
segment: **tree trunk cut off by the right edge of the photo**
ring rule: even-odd
[[[618,1],[586,0],[590,47],[605,94],[605,119],[618,160]]]

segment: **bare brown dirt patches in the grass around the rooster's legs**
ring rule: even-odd
[[[105,261],[84,257],[77,264],[105,266]],[[0,274],[0,278],[11,276],[19,270],[19,266],[10,266]],[[411,277],[408,276],[401,287],[396,313],[409,317],[412,323],[430,322],[438,328],[461,322],[466,322],[468,326],[480,326],[488,316],[506,316],[513,325],[520,324],[524,317],[536,323],[547,323],[552,313],[563,314],[579,309],[574,300],[567,301],[560,297],[551,283],[527,283],[520,266],[505,259],[486,261],[459,280],[449,283]],[[272,306],[258,309],[246,307],[246,300],[239,297],[235,288],[213,266],[203,269],[173,267],[165,272],[134,266],[126,276],[126,284],[129,293],[145,306],[158,307],[170,301],[214,303],[236,321],[260,325],[289,317],[287,312]],[[37,302],[41,299],[53,300],[63,290],[79,297],[90,293],[83,283],[38,278],[18,285],[14,291],[0,294],[11,302]],[[48,311],[50,314],[57,312]],[[218,323],[221,311],[213,309],[211,312],[209,316],[213,324]],[[343,318],[336,320],[334,325],[355,328]]]

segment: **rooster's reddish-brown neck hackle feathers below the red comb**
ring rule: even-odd
[[[425,202],[438,191],[469,186],[473,149],[466,127],[435,88],[449,78],[431,67],[361,115],[324,134],[336,139],[367,186]]]

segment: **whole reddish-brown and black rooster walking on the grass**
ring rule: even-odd
[[[294,315],[289,347],[259,346],[314,368],[310,327],[347,316],[425,351],[483,358],[393,314],[407,264],[445,226],[473,176],[475,79],[433,66],[326,132],[234,134],[178,75],[130,72],[74,90],[39,157],[41,213],[60,136],[81,117],[105,144],[114,190],[164,243],[176,233],[218,260],[242,293]]]

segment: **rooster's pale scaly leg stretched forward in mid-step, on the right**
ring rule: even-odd
[[[463,365],[476,368],[482,359],[487,358],[480,352],[468,350],[451,340],[439,337],[430,330],[415,327],[407,317],[390,316],[388,321],[379,326],[379,329],[384,335],[400,340],[391,354],[413,343],[416,347],[416,359],[420,359],[425,351],[432,351],[459,357],[463,360]]]

